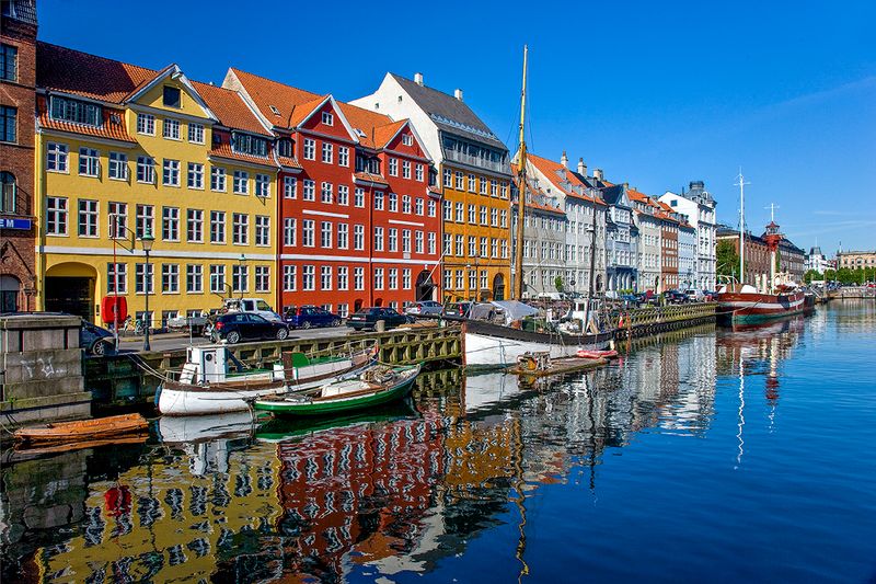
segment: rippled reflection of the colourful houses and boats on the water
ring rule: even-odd
[[[703,436],[718,375],[762,376],[777,404],[802,330],[676,332],[537,386],[434,371],[411,405],[362,416],[255,432],[247,416],[161,420],[147,446],[7,465],[3,577],[376,580],[429,573],[507,522],[503,553],[526,573],[534,493],[596,492],[607,451],[641,433]]]

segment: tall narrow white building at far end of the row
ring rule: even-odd
[[[688,221],[696,230],[696,265],[694,267],[694,287],[698,289],[715,289],[715,245],[717,224],[715,219],[715,199],[705,190],[703,181],[692,181],[690,191],[677,194],[667,191],[660,201],[672,210],[688,216]],[[679,272],[679,279],[681,279]]]

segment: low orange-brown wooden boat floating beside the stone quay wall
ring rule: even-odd
[[[112,415],[77,422],[53,422],[26,426],[15,432],[22,445],[45,445],[78,440],[99,440],[146,432],[149,423],[140,414]]]

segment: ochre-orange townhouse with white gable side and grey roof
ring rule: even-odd
[[[462,99],[387,73],[371,95],[354,105],[410,119],[438,165],[443,233],[445,300],[505,299],[510,285],[510,183],[508,149]]]

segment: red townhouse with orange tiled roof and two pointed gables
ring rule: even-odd
[[[440,192],[406,119],[230,69],[278,139],[281,307],[320,305],[346,317],[440,298]]]

